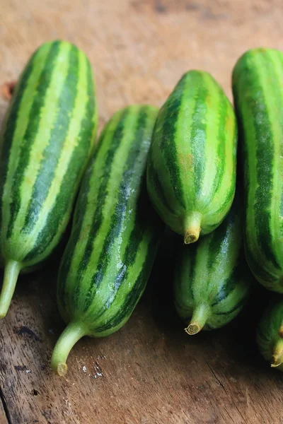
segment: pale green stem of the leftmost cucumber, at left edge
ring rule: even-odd
[[[0,319],[4,318],[8,312],[20,271],[21,264],[17,261],[8,261],[6,263],[4,281],[0,295]]]

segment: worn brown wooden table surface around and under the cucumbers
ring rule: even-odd
[[[41,42],[70,40],[96,70],[100,126],[129,103],[161,105],[192,68],[231,98],[241,53],[283,41],[282,0],[1,0],[0,16],[0,82],[18,78]],[[6,107],[1,99],[1,117]],[[66,379],[49,368],[64,327],[57,264],[21,277],[0,323],[1,424],[283,423],[283,375],[254,340],[265,292],[226,329],[189,337],[173,311],[171,262],[158,261],[122,330],[75,346]]]

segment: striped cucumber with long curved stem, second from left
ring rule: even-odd
[[[51,360],[59,375],[79,338],[108,336],[127,322],[149,278],[163,229],[144,175],[157,112],[133,105],[114,114],[83,177],[57,284],[68,324]]]

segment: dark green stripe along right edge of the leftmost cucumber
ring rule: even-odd
[[[93,117],[95,114],[95,100],[93,96],[93,77],[90,66],[88,66],[88,103],[86,105],[86,114],[81,121],[81,131],[79,133],[78,144],[74,149],[71,160],[64,179],[62,181],[59,194],[57,195],[54,206],[47,217],[45,227],[35,241],[35,245],[30,253],[25,257],[25,261],[31,261],[46,251],[50,246],[59,225],[67,225],[68,214],[72,201],[76,195],[76,188],[79,185],[79,176],[83,172],[82,164],[86,164],[86,152],[89,151],[89,146],[92,142],[93,135]]]

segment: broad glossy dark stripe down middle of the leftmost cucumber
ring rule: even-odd
[[[72,45],[69,52],[69,70],[67,78],[62,85],[57,117],[54,121],[54,126],[50,134],[50,140],[43,152],[40,170],[38,171],[37,179],[35,180],[33,194],[25,216],[25,223],[22,229],[25,234],[31,232],[35,223],[37,223],[38,216],[42,209],[42,204],[44,204],[47,198],[52,180],[54,179],[59,158],[62,156],[62,149],[69,131],[70,122],[72,119],[76,119],[76,117],[73,116],[73,110],[79,81],[78,73],[78,49]],[[58,89],[59,88],[60,87],[58,87]]]

